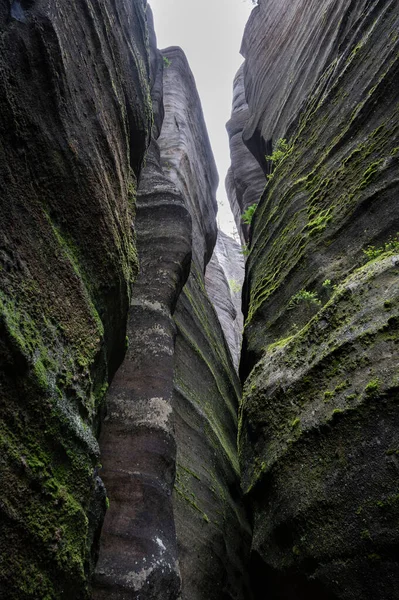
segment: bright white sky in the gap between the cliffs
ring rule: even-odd
[[[230,118],[233,80],[240,64],[251,0],[149,0],[158,48],[183,48],[197,82],[205,121],[219,171],[219,226],[233,232],[233,216],[224,188],[230,166],[225,124]]]

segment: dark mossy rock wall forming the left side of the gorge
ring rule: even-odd
[[[0,595],[87,598],[137,272],[145,2],[0,2]]]

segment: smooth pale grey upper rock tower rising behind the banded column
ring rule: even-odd
[[[159,139],[162,166],[183,193],[193,222],[193,254],[204,271],[216,243],[216,170],[194,77],[183,51],[162,51],[165,120]]]

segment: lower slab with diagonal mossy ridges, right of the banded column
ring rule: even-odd
[[[184,600],[250,600],[250,529],[236,446],[240,384],[201,270],[191,274],[175,321],[174,510]]]

